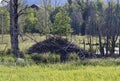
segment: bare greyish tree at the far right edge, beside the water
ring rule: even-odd
[[[119,1],[119,0],[118,0]],[[120,24],[120,11],[119,2],[115,4],[112,0],[108,2],[108,8],[105,11],[105,36],[106,36],[106,54],[108,50],[111,55],[114,54],[115,44],[119,36],[119,24]]]

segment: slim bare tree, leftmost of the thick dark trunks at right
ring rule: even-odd
[[[104,45],[102,42],[102,33],[104,30],[104,23],[105,23],[104,11],[105,11],[106,5],[103,0],[97,0],[95,2],[95,8],[96,8],[96,15],[97,15],[95,21],[96,21],[96,27],[98,31],[97,35],[99,39],[99,50],[100,50],[100,54],[104,56]]]

